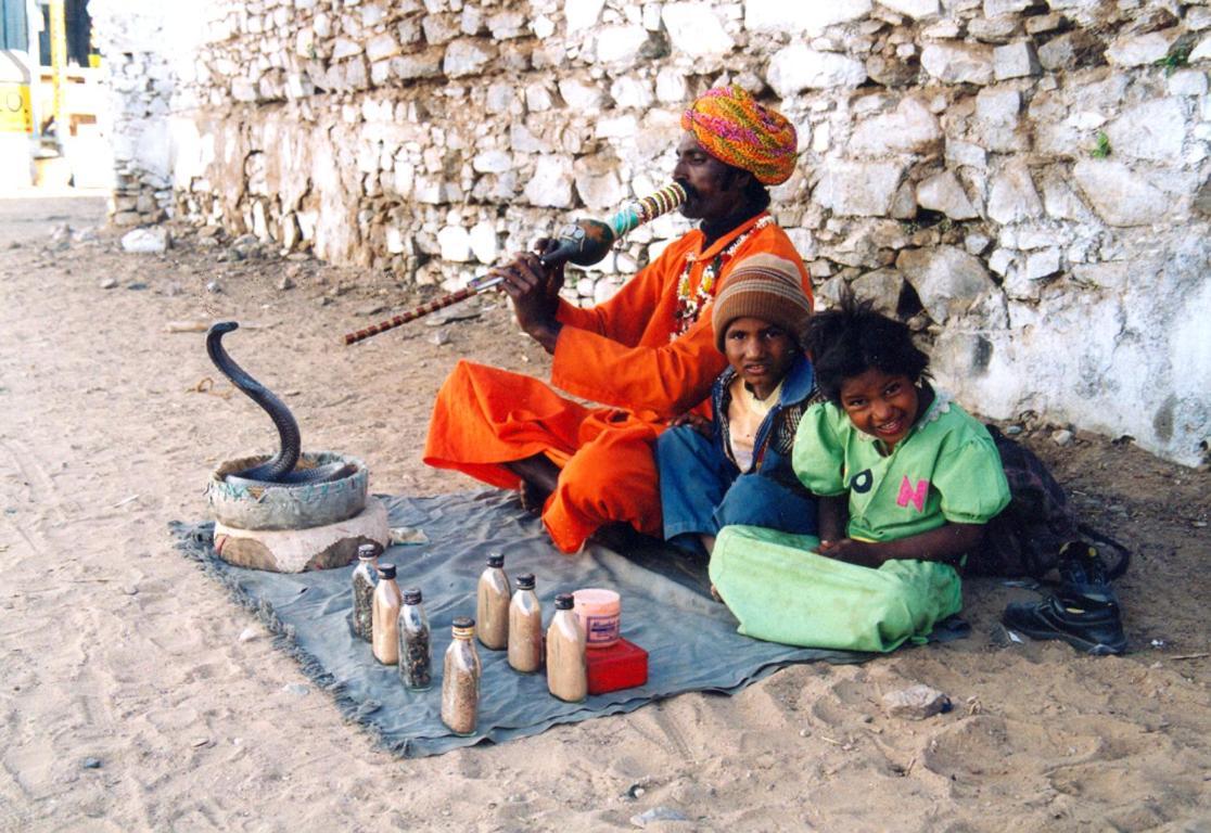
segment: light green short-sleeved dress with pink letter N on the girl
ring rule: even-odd
[[[794,438],[794,471],[820,495],[849,495],[850,538],[890,541],[947,522],[986,523],[1009,504],[1009,484],[988,431],[943,393],[884,456],[873,437],[832,403],[808,409]],[[958,573],[929,561],[878,569],[819,556],[819,539],[725,527],[711,580],[758,639],[813,648],[890,651],[924,639],[958,613]]]

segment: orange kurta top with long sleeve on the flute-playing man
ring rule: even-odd
[[[602,404],[653,410],[664,418],[676,416],[699,404],[708,395],[711,383],[727,367],[727,360],[714,346],[710,306],[700,312],[689,331],[670,341],[677,309],[677,283],[688,253],[696,255],[690,272],[690,286],[696,288],[706,265],[751,230],[744,243],[730,257],[723,258],[714,288],[727,277],[731,264],[747,255],[769,253],[798,264],[804,289],[811,297],[807,269],[786,232],[771,223],[757,228],[758,219],[716,241],[702,253],[698,252],[700,234],[694,232],[696,239],[687,235],[636,275],[636,280],[642,278],[641,289],[633,295],[624,295],[615,304],[610,304],[614,300],[610,299],[602,305],[607,308],[604,310],[593,308],[564,317],[561,308],[564,327],[556,341],[551,384]],[[656,303],[652,304],[650,287],[654,282],[659,282],[660,291]],[[638,306],[639,303],[644,305]],[[637,321],[642,322],[643,333],[637,343],[614,338],[608,323],[621,321],[626,322],[625,327],[620,326],[625,331],[633,328]],[[590,326],[580,327],[576,322]]]

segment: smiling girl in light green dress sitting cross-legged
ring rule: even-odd
[[[819,540],[728,527],[711,580],[741,633],[888,651],[959,611],[954,564],[1009,504],[1009,486],[988,431],[929,384],[929,357],[903,323],[846,297],[808,322],[803,344],[828,400],[808,409],[792,453],[821,495]]]

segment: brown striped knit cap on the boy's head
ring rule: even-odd
[[[781,327],[796,341],[811,315],[811,299],[803,291],[803,278],[794,264],[774,254],[754,254],[736,263],[714,297],[711,323],[714,346],[723,350],[723,338],[736,318],[761,318]]]

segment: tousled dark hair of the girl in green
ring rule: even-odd
[[[876,312],[871,301],[856,300],[848,289],[836,309],[808,318],[800,341],[816,385],[834,404],[840,404],[842,381],[872,367],[914,384],[929,378],[929,356],[913,344],[907,324]]]

